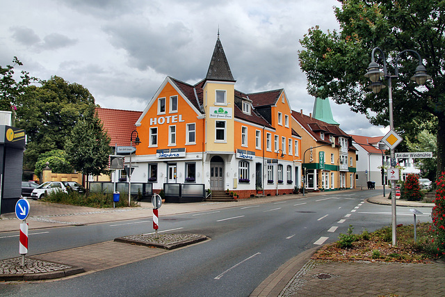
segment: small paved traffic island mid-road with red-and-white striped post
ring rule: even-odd
[[[207,239],[207,236],[201,234],[141,234],[132,236],[118,237],[114,241],[122,243],[137,244],[139,246],[148,246],[151,248],[163,248],[173,250],[198,243]]]

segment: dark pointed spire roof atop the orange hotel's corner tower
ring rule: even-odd
[[[229,63],[224,53],[223,45],[220,41],[220,31],[218,29],[218,39],[211,56],[209,70],[207,70],[206,80],[211,81],[235,81]]]

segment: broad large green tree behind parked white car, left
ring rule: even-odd
[[[17,122],[26,130],[28,144],[24,167],[33,170],[38,156],[51,150],[63,150],[65,141],[79,120],[92,120],[88,110],[95,99],[87,88],[61,77],[29,86],[17,99]]]

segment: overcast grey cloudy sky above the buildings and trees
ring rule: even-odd
[[[165,77],[191,84],[204,79],[219,27],[237,90],[284,88],[292,109],[309,115],[314,97],[298,66],[298,40],[312,26],[338,29],[333,6],[339,2],[2,1],[0,65],[17,56],[24,63],[17,70],[79,83],[105,108],[143,111]],[[330,104],[349,134],[387,131],[346,105]]]

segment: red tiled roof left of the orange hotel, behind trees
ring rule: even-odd
[[[131,131],[136,130],[136,121],[142,111],[122,111],[120,109],[96,108],[97,117],[102,121],[104,129],[110,136],[110,145],[130,145]],[[136,136],[135,136],[136,138]]]

